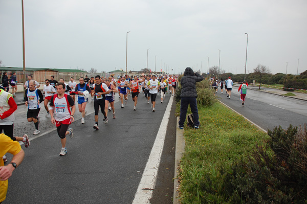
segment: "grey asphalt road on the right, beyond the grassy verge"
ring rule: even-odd
[[[225,89],[222,95],[219,88],[217,96],[220,101],[265,130],[272,130],[279,125],[286,129],[290,124],[299,126],[307,122],[307,101],[248,89],[243,107],[238,87],[232,88],[231,99],[227,98]]]

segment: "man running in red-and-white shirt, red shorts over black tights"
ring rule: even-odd
[[[66,149],[66,135],[70,135],[70,138],[74,137],[73,128],[68,128],[69,125],[74,122],[75,114],[75,102],[71,96],[64,93],[65,84],[59,82],[56,84],[57,94],[53,95],[50,100],[50,116],[52,124],[55,124],[58,135],[61,139],[61,152],[60,156],[67,153]],[[70,110],[70,108],[72,111]],[[54,117],[53,117],[54,112]]]

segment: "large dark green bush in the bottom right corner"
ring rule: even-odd
[[[307,203],[307,132],[304,127],[280,126],[256,146],[247,160],[226,173],[229,203]]]

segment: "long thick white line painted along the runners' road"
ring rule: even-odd
[[[139,184],[137,193],[132,203],[150,203],[149,199],[152,196],[152,191],[155,189],[157,182],[157,175],[167,129],[167,126],[165,124],[168,124],[169,121],[172,102],[173,97],[170,97],[168,105],[164,112],[162,122],[160,124],[159,131],[157,133],[155,143],[152,146],[145,170],[142,175],[141,182]]]

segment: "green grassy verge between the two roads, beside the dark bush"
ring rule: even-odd
[[[199,107],[201,127],[184,127],[179,180],[181,203],[227,203],[225,173],[268,135],[220,103]]]

